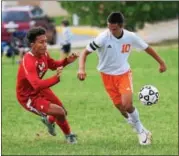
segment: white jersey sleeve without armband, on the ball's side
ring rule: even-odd
[[[133,46],[139,50],[145,50],[149,45],[139,36],[133,33]]]

